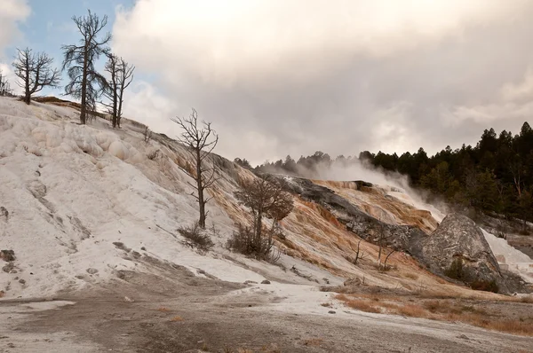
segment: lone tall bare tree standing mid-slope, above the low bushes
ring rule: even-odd
[[[205,163],[207,156],[215,149],[219,143],[219,135],[211,128],[211,122],[202,122],[202,125],[198,123],[198,113],[195,109],[189,115],[188,118],[171,118],[172,122],[176,122],[183,133],[178,141],[188,147],[189,152],[195,159],[195,173],[187,173],[189,176],[195,179],[196,184],[190,184],[196,188],[198,195],[195,196],[200,207],[200,219],[198,224],[205,229],[205,204],[211,200],[211,198],[205,198],[204,191],[210,188],[212,184],[217,180],[215,174],[215,167],[208,167]]]

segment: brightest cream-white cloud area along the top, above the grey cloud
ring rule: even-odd
[[[117,12],[114,49],[139,66],[167,69],[172,82],[271,85],[272,75],[306,82],[354,53],[392,55],[460,35],[523,1],[139,0]]]

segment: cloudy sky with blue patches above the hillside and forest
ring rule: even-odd
[[[435,153],[533,116],[531,0],[0,0],[0,68],[60,66],[88,8],[136,67],[125,116],[175,137],[194,107],[229,159]]]

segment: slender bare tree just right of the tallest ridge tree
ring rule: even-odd
[[[104,96],[109,99],[110,103],[105,104],[105,106],[112,116],[113,127],[120,128],[124,90],[133,80],[135,67],[128,64],[123,58],[116,57],[115,54],[108,54],[105,70],[111,76],[104,91]]]

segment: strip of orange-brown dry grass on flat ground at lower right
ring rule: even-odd
[[[533,336],[531,319],[508,318],[489,313],[473,305],[465,305],[457,298],[424,300],[402,298],[400,296],[384,294],[338,294],[335,296],[346,306],[365,312],[388,313],[402,315],[410,318],[428,318],[432,320],[462,322],[472,326],[504,333]],[[515,302],[524,300],[529,302],[529,297],[517,298]],[[505,313],[503,313],[505,315]]]

